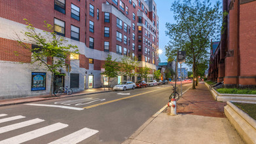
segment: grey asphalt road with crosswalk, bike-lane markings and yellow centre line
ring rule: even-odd
[[[168,84],[0,107],[0,143],[122,143],[171,93]]]

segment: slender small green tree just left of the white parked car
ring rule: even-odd
[[[107,55],[107,58],[103,65],[103,68],[105,68],[105,71],[101,73],[101,75],[106,75],[107,77],[109,77],[108,79],[109,87],[110,87],[110,79],[115,78],[119,75],[118,71],[120,70],[120,66],[119,66],[119,63],[116,61],[117,59],[112,60],[112,56],[109,54]]]

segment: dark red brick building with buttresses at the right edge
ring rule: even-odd
[[[256,1],[223,0],[226,30],[211,53],[209,79],[225,87],[256,87]]]

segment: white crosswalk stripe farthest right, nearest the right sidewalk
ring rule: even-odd
[[[88,137],[97,134],[98,130],[92,130],[90,128],[83,128],[82,130],[79,130],[77,132],[74,132],[72,134],[69,134],[65,137],[62,137],[60,139],[57,139],[56,141],[52,141],[48,144],[69,144],[69,143],[79,143],[84,139],[87,139]]]

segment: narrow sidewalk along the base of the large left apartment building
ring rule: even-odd
[[[13,99],[0,99],[0,107],[1,106],[6,106],[6,105],[16,105],[20,103],[31,103],[35,101],[45,101],[49,99],[61,99],[61,98],[69,98],[73,96],[82,96],[82,95],[87,95],[87,94],[98,94],[98,93],[103,93],[103,92],[111,92],[113,91],[113,88],[89,88],[87,90],[84,90],[82,92],[75,92],[71,95],[64,95],[60,97],[50,97],[50,96],[31,96],[31,97],[26,97],[26,98],[13,98]]]

